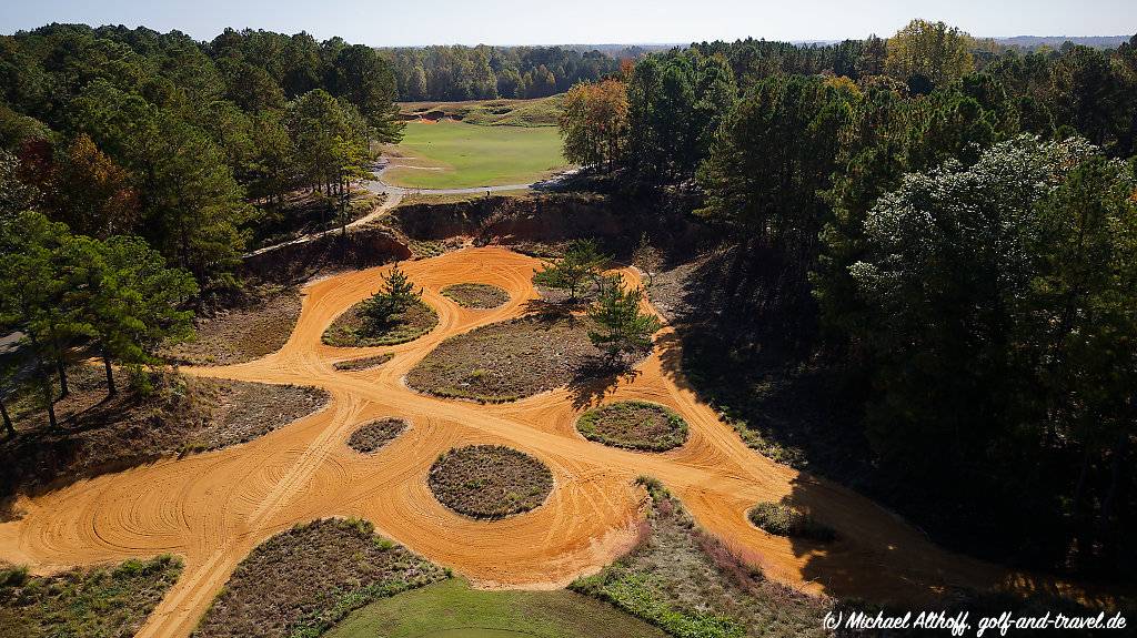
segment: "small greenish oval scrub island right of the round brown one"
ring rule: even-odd
[[[580,415],[584,438],[631,450],[665,452],[687,443],[687,421],[669,408],[646,401],[619,401]]]

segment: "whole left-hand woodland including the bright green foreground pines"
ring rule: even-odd
[[[304,33],[56,24],[0,36],[0,331],[30,346],[52,428],[69,349],[101,356],[115,394],[116,366],[157,362],[239,292],[285,194],[318,191],[346,224],[372,143],[401,131],[388,62]]]

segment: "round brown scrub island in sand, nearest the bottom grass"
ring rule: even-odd
[[[528,512],[553,490],[553,472],[524,452],[501,445],[468,445],[434,461],[428,479],[434,497],[475,519]]]

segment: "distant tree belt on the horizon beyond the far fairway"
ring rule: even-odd
[[[404,101],[546,98],[600,79],[637,52],[484,44],[383,50]]]

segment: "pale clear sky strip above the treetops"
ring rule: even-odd
[[[894,33],[913,17],[973,35],[1137,33],[1137,0],[0,0],[0,33],[51,22],[307,31],[376,47],[841,40]]]

